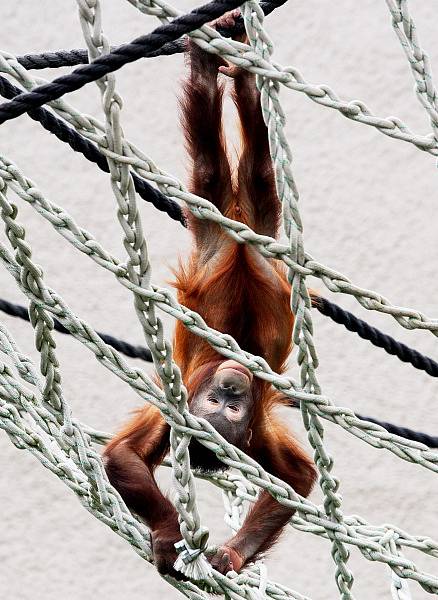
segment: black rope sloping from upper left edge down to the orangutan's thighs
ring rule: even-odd
[[[19,94],[21,94],[20,88],[0,75],[0,95],[5,98],[14,98]],[[44,129],[53,133],[59,140],[66,142],[75,152],[80,152],[90,162],[95,163],[99,169],[105,171],[105,173],[109,173],[106,157],[99,152],[97,146],[80,135],[72,127],[66,125],[62,119],[58,119],[58,117],[45,108],[30,110],[28,115],[34,121],[41,123]],[[158,210],[167,213],[171,219],[179,221],[185,227],[187,226],[179,204],[167,198],[136,173],[132,173],[132,178],[134,180],[134,187],[143,200],[150,202]]]

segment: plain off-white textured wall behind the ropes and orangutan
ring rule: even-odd
[[[127,2],[105,0],[104,29],[111,43],[150,31],[158,21]],[[180,1],[179,8],[195,6]],[[434,0],[411,2],[423,47],[438,59]],[[22,0],[3,3],[1,47],[16,54],[84,47],[75,2]],[[430,132],[427,115],[413,93],[406,58],[392,31],[385,2],[377,0],[291,0],[267,20],[275,59],[294,65],[304,77],[330,85],[343,99],[361,99],[381,116],[396,115],[414,131]],[[60,71],[46,71],[53,79]],[[117,75],[123,96],[126,136],[163,169],[185,176],[186,159],[178,125],[177,95],[184,74],[181,55],[143,60]],[[316,259],[375,289],[395,304],[438,316],[438,194],[434,157],[375,129],[318,106],[303,94],[282,89],[301,193],[305,245]],[[68,98],[102,118],[94,84]],[[234,116],[227,106],[229,129]],[[15,161],[44,194],[116,256],[121,231],[109,178],[81,156],[22,116],[0,128],[0,151]],[[153,280],[163,285],[170,266],[189,248],[189,235],[164,214],[139,201],[149,243]],[[20,218],[34,258],[47,283],[97,330],[141,344],[142,334],[127,290],[63,240],[18,200]],[[2,240],[4,233],[0,233]],[[388,316],[366,312],[352,298],[330,295],[319,280],[309,285],[418,350],[438,358],[436,338],[406,331]],[[11,277],[0,271],[0,297],[24,303]],[[0,319],[22,350],[37,359],[28,324]],[[438,434],[437,385],[343,328],[314,313],[315,340],[324,392],[338,405],[414,429]],[[167,333],[173,323],[164,317]],[[97,429],[114,431],[139,399],[73,339],[57,335],[66,396],[74,414]],[[297,375],[291,357],[290,372]],[[150,365],[142,365],[151,372]],[[306,442],[299,414],[285,415]],[[339,427],[326,424],[326,444],[335,457],[345,514],[370,523],[394,523],[416,535],[438,537],[437,476],[376,450]],[[168,487],[169,473],[163,481]],[[220,494],[200,485],[200,506],[213,541],[228,535]],[[312,494],[316,503],[322,494]],[[97,600],[177,598],[121,538],[84,511],[75,496],[28,453],[0,433],[0,594],[13,600]],[[269,560],[269,575],[314,600],[337,597],[330,544],[289,529]],[[427,556],[407,552],[438,574]],[[388,570],[351,549],[357,598],[390,598]],[[414,582],[416,600],[428,597]]]

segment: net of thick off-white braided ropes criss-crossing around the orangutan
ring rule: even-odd
[[[20,89],[26,92],[0,106],[0,122],[24,112],[33,116],[32,113],[40,110],[38,107],[47,103],[54,114],[99,149],[109,167],[126,251],[124,261],[112,256],[62,207],[47,199],[14,163],[0,154],[0,209],[9,242],[9,246],[0,243],[0,261],[28,298],[35,343],[40,352],[37,368],[21,353],[0,323],[0,351],[8,359],[8,362],[0,362],[0,427],[15,446],[33,453],[57,475],[89,512],[129,542],[140,556],[152,562],[147,528],[130,513],[110,485],[95,449],[95,444],[104,443],[109,436],[76,419],[64,396],[53,334],[56,318],[105,368],[128,384],[144,401],[156,406],[170,425],[170,458],[166,462],[172,467],[175,506],[182,537],[175,568],[182,571],[187,580],[176,582],[169,577],[167,580],[185,596],[200,600],[207,598],[212,591],[235,599],[307,598],[270,581],[263,561],[248,566],[240,574],[223,576],[211,569],[205,558],[208,530],[201,523],[197,510],[195,479],[190,470],[188,446],[192,437],[215,452],[225,466],[233,469],[208,477],[223,491],[226,522],[232,530],[239,529],[241,525],[244,503],[254,502],[258,491],[266,490],[279,503],[295,510],[290,521],[292,527],[329,541],[341,598],[354,597],[354,578],[349,566],[350,546],[356,547],[367,560],[390,567],[394,597],[408,597],[408,579],[418,582],[430,593],[438,593],[438,576],[421,570],[404,555],[406,548],[413,548],[438,558],[436,541],[427,536],[408,534],[392,525],[376,526],[342,511],[334,460],[324,445],[324,421],[335,423],[363,442],[433,472],[438,471],[438,453],[424,444],[390,434],[383,427],[358,418],[351,410],[337,406],[322,394],[316,374],[318,358],[312,337],[311,302],[306,278],[309,275],[318,277],[329,290],[350,294],[367,309],[391,315],[407,329],[425,329],[438,335],[438,320],[392,304],[377,292],[352,283],[305,252],[298,191],[292,173],[292,154],[284,134],[286,117],[279,101],[280,87],[291,88],[353,121],[371,125],[385,135],[438,155],[437,94],[429,60],[421,49],[406,0],[387,0],[386,4],[411,66],[417,97],[430,117],[432,133],[427,136],[412,133],[397,118],[374,115],[363,102],[345,102],[329,87],[310,84],[297,69],[274,62],[273,45],[263,26],[264,11],[256,0],[248,0],[242,6],[248,45],[227,39],[205,25],[239,6],[239,0],[219,0],[183,16],[161,0],[128,1],[141,12],[157,17],[161,26],[131,44],[111,50],[102,30],[100,0],[77,0],[90,65],[50,84],[34,78],[15,56],[0,53],[0,72],[15,79],[21,85]],[[282,3],[269,4],[275,7]],[[229,62],[257,75],[277,192],[283,207],[286,244],[258,235],[244,224],[225,218],[211,203],[187,192],[181,182],[161,170],[124,136],[122,102],[113,72],[127,62],[153,55],[185,34],[207,52],[220,54]],[[81,114],[62,97],[90,81],[96,81],[101,92],[103,123]],[[282,260],[287,265],[292,286],[293,341],[297,347],[299,381],[289,375],[274,373],[262,358],[241,349],[231,336],[208,327],[199,314],[180,305],[167,289],[152,283],[148,247],[137,208],[136,178],[152,182],[161,195],[184,202],[197,218],[216,222],[239,243],[251,244],[263,256]],[[126,362],[46,283],[41,267],[34,262],[11,192],[28,202],[55,231],[79,252],[113,273],[116,280],[132,293],[135,311],[162,387],[157,386],[142,369]],[[227,443],[206,421],[189,413],[187,392],[178,366],[172,359],[171,345],[164,336],[159,311],[178,319],[220,354],[239,361],[255,376],[269,381],[292,401],[300,403],[303,423],[319,470],[324,497],[321,506],[300,497],[289,485],[271,476],[254,460]]]

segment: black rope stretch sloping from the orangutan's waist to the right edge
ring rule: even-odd
[[[335,323],[344,325],[349,331],[357,333],[361,338],[370,341],[374,346],[383,348],[388,354],[397,356],[402,362],[410,363],[413,367],[420,369],[420,371],[425,371],[431,377],[438,377],[438,363],[432,358],[424,356],[417,350],[409,348],[409,346],[382,333],[372,325],[362,321],[362,319],[359,319],[326,298],[313,296],[312,303],[321,314],[330,317]]]

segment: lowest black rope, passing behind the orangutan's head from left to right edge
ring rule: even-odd
[[[19,317],[20,319],[24,319],[25,321],[30,321],[29,312],[25,306],[20,306],[19,304],[12,304],[11,302],[7,302],[6,300],[0,299],[0,310],[12,317]],[[62,325],[57,319],[54,319],[54,327],[56,331],[70,335],[68,329],[66,329],[64,325]],[[152,362],[152,355],[148,348],[145,348],[144,346],[134,346],[132,344],[129,344],[128,342],[119,340],[113,337],[112,335],[108,335],[106,333],[96,333],[102,338],[104,342],[106,342],[109,346],[112,346],[113,348],[115,348],[115,350],[118,350],[122,354],[125,354],[130,358],[140,358],[141,360]],[[292,400],[290,406],[292,408],[299,408],[299,403]],[[426,446],[429,446],[429,448],[438,448],[438,437],[431,436],[421,431],[414,431],[413,429],[409,429],[407,427],[394,425],[393,423],[387,423],[386,421],[379,421],[378,419],[374,419],[373,417],[364,417],[362,415],[356,416],[359,417],[359,419],[363,419],[364,421],[369,421],[371,423],[376,423],[377,425],[380,425],[389,433],[393,433],[408,440],[421,442],[422,444],[426,444]]]

